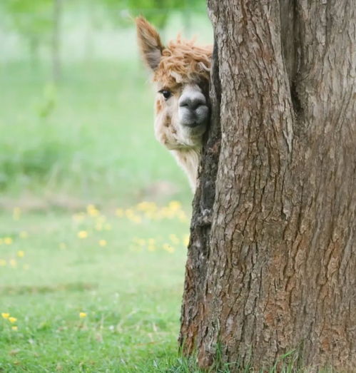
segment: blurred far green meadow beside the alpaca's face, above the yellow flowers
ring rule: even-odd
[[[72,63],[54,87],[46,83],[45,68],[4,66],[2,193],[49,188],[78,198],[127,200],[166,183],[172,198],[190,200],[185,175],[154,138],[153,93],[139,68],[138,58],[86,68]]]

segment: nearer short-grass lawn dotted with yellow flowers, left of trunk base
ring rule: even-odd
[[[177,355],[180,203],[0,216],[0,371],[156,372]]]

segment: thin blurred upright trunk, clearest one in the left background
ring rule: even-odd
[[[61,77],[61,11],[62,0],[54,0],[53,34],[52,34],[52,78]]]

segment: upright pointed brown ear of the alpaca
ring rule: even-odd
[[[156,29],[143,17],[138,17],[135,21],[138,46],[141,49],[143,61],[146,62],[148,67],[155,71],[161,60],[162,51],[164,49],[160,36]]]

